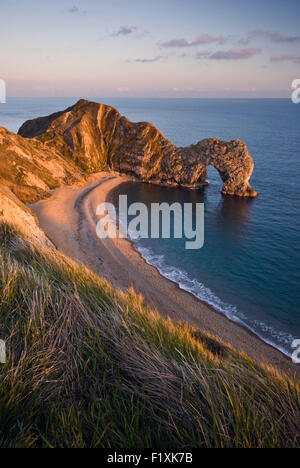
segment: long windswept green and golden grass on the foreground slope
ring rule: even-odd
[[[1,447],[299,447],[300,389],[0,227]]]

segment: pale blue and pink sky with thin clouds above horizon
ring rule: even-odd
[[[299,0],[0,0],[8,96],[288,97]]]

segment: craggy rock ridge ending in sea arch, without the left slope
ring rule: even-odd
[[[205,184],[212,165],[224,194],[257,196],[249,184],[254,164],[245,143],[216,138],[177,148],[153,125],[130,122],[103,104],[80,100],[63,112],[25,122],[19,135],[84,173],[108,167],[145,182],[197,187]]]

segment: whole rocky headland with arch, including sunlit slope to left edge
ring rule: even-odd
[[[207,183],[209,165],[218,170],[224,195],[257,196],[249,184],[254,163],[245,143],[214,138],[179,148],[152,124],[133,123],[104,104],[80,100],[25,122],[18,135],[0,128],[0,182],[26,202],[104,169],[197,188]]]

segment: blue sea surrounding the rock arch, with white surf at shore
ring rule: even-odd
[[[214,168],[198,191],[140,183],[122,185],[129,202],[205,204],[205,244],[185,250],[178,239],[135,241],[167,278],[285,354],[300,339],[300,105],[289,100],[101,99],[133,121],[149,121],[176,145],[208,137],[247,143],[260,196],[224,198]],[[8,99],[0,125],[17,131],[27,119],[76,99]],[[116,196],[118,193],[116,193]]]

